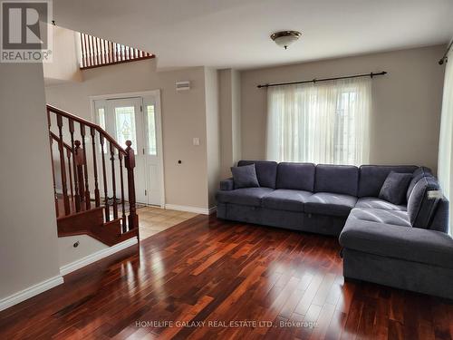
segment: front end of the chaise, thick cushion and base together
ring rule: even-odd
[[[453,298],[453,239],[424,228],[348,219],[343,276]]]

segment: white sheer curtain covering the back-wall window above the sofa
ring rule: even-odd
[[[371,78],[269,87],[266,158],[368,163],[370,112]]]

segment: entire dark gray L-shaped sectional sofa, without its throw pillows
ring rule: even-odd
[[[222,180],[217,218],[340,238],[343,275],[453,298],[448,201],[430,197],[437,180],[418,166],[255,164],[259,188]],[[379,199],[390,171],[410,173],[407,204]]]

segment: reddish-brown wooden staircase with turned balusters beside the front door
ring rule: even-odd
[[[47,105],[58,236],[113,246],[139,236],[135,153],[99,125]],[[127,193],[127,196],[125,195]]]

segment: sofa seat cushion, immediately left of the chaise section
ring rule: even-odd
[[[312,214],[347,217],[356,202],[357,198],[354,196],[317,192],[307,199],[304,211]]]

